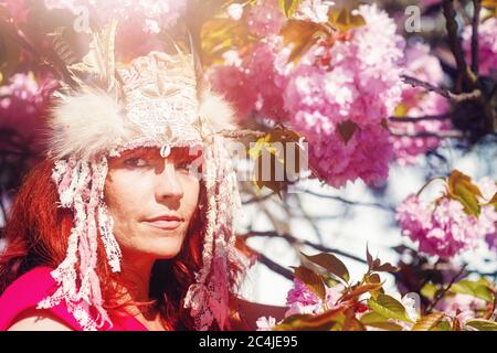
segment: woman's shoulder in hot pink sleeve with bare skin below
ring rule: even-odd
[[[12,324],[25,324],[34,320],[38,325],[45,325],[56,320],[65,327],[77,329],[77,323],[63,304],[42,311],[36,309],[38,303],[56,289],[51,271],[50,267],[35,267],[20,276],[6,289],[0,297],[1,331],[9,329]]]

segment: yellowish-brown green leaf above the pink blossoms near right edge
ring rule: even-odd
[[[453,170],[447,179],[447,191],[448,197],[461,202],[468,215],[479,216],[482,207],[477,196],[483,197],[483,195],[469,176],[456,169]]]

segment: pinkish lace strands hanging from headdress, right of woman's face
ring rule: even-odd
[[[205,186],[208,192],[208,225],[202,253],[203,266],[197,282],[190,286],[184,308],[190,308],[197,330],[209,330],[215,320],[229,329],[229,292],[232,280],[230,265],[246,268],[247,259],[235,248],[233,215],[240,210],[240,193],[224,140],[214,137],[205,151]]]

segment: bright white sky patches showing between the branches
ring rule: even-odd
[[[474,179],[488,175],[497,179],[497,149],[479,149],[476,148],[466,156],[454,151],[453,149],[444,148],[444,156],[447,157],[452,165],[445,165],[440,171],[433,171],[433,174],[448,173],[451,169],[458,169]],[[429,170],[426,164],[419,167],[400,168],[393,167],[390,173],[390,184],[385,193],[385,200],[391,205],[399,204],[410,193],[415,193],[424,184],[424,174]],[[327,186],[320,186],[316,182],[311,182],[309,190],[319,192],[320,194],[340,195],[348,200],[362,202],[378,202],[374,200],[370,189],[363,183],[357,182],[348,184],[342,190],[335,190]],[[426,196],[440,192],[436,184],[426,190]],[[423,193],[425,194],[425,193]],[[308,214],[313,215],[338,215],[343,212],[343,204],[340,202],[315,197],[313,195],[302,194],[302,200]],[[274,200],[274,199],[273,199]],[[267,201],[267,207],[278,213],[278,204],[276,201]],[[254,231],[272,231],[271,222],[267,217],[253,205],[245,206],[244,220],[241,222],[242,227],[250,222],[253,224]],[[366,206],[352,206],[350,214],[346,217],[336,220],[322,221],[319,223],[319,229],[322,233],[324,244],[345,250],[347,253],[357,255],[366,259],[366,245],[369,244],[369,249],[372,255],[377,255],[384,261],[398,260],[398,255],[391,250],[392,246],[399,244],[409,244],[413,247],[415,245],[404,236],[400,235],[399,228],[395,227],[393,214]],[[281,213],[281,212],[279,212]],[[308,222],[302,218],[293,217],[289,223],[290,233],[299,238],[306,238],[311,242],[318,242],[316,233]],[[271,259],[283,266],[298,266],[299,261],[295,257],[295,252],[286,245],[283,239],[266,239],[252,238],[248,245],[262,252]],[[307,250],[307,254],[315,254],[316,250]],[[340,257],[340,256],[339,256]],[[479,269],[480,271],[495,271],[496,266],[491,266],[484,261],[484,258],[491,258],[497,260],[495,254],[490,254],[483,245],[480,248],[468,252],[462,256],[463,259],[470,264],[470,267]],[[366,265],[340,257],[348,266],[352,279],[360,279],[366,271]],[[458,259],[456,259],[457,261]],[[494,265],[497,265],[494,261]],[[387,275],[387,288],[394,290],[393,277]],[[276,275],[262,264],[257,264],[251,270],[248,278],[244,286],[244,296],[257,302],[269,304],[285,304],[287,291],[290,289],[292,282],[279,275]]]

